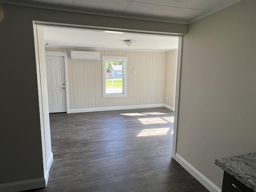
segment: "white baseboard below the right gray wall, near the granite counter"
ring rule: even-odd
[[[175,160],[185,168],[194,178],[196,178],[203,186],[206,187],[210,192],[221,192],[221,189],[218,188],[214,183],[212,183],[208,178],[206,178],[202,173],[200,173],[196,168],[189,164],[184,158],[179,154],[175,154]]]

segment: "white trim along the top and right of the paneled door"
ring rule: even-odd
[[[66,81],[66,105],[67,105],[67,113],[70,113],[69,85],[68,85],[68,52],[46,51],[45,56],[64,56],[65,81]]]

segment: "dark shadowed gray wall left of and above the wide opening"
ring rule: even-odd
[[[187,32],[184,24],[7,4],[0,4],[0,12],[0,184],[44,177],[32,20],[178,34]]]

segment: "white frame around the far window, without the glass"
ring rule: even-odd
[[[127,97],[127,64],[128,57],[124,56],[102,56],[102,97]],[[106,62],[107,61],[119,61],[122,62],[122,93],[106,93]]]

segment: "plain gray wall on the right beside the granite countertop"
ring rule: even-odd
[[[177,153],[218,187],[215,158],[256,150],[255,12],[244,0],[184,36]]]

